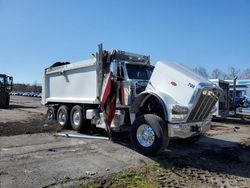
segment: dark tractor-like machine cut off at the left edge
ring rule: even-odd
[[[13,86],[13,77],[0,74],[0,107],[8,107],[10,103],[10,92]]]

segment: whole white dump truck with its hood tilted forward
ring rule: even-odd
[[[76,131],[89,124],[107,129],[101,104],[111,72],[117,97],[110,128],[130,127],[137,151],[160,153],[170,138],[195,141],[209,129],[221,89],[208,80],[176,63],[159,61],[154,67],[150,56],[108,52],[102,45],[93,56],[45,69],[42,103],[48,107],[48,119]]]

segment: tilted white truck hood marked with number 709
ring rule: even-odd
[[[183,65],[158,61],[146,90],[155,90],[172,97],[178,104],[189,106],[194,94],[204,86],[214,84]]]

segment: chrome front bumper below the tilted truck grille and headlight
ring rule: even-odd
[[[207,132],[210,129],[211,120],[191,123],[169,123],[168,136],[178,138],[188,138]]]

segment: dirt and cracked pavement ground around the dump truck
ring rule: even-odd
[[[172,140],[149,158],[128,133],[115,142],[57,137],[45,113],[40,99],[17,96],[0,109],[0,187],[250,187],[250,121],[213,122],[196,144]]]

